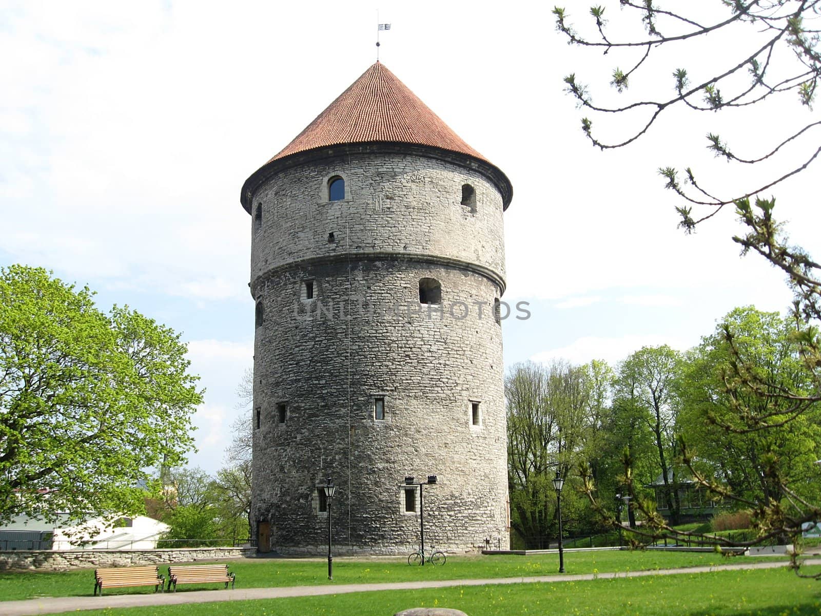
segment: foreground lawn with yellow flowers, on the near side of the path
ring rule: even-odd
[[[819,568],[814,568],[815,572]],[[786,569],[686,573],[487,586],[454,586],[419,591],[374,591],[344,595],[288,597],[117,609],[117,616],[347,616],[395,614],[411,607],[461,609],[469,616],[511,614],[759,614],[801,616],[821,613],[821,584],[802,580]],[[112,616],[108,609],[84,616]]]

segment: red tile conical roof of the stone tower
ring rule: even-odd
[[[306,149],[365,141],[430,145],[488,162],[376,62],[268,163]]]

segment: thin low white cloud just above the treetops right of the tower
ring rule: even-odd
[[[641,347],[658,347],[667,344],[679,351],[695,345],[697,340],[684,340],[663,335],[628,335],[612,338],[585,336],[577,338],[566,347],[536,353],[532,361],[548,362],[554,359],[565,359],[572,364],[586,364],[594,359],[604,360],[610,364],[621,361]]]

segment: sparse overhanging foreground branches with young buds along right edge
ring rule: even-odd
[[[759,165],[761,169],[764,166],[763,170],[749,175],[754,177],[755,183],[747,183],[740,189],[704,186],[692,168],[686,168],[683,173],[672,167],[659,168],[666,187],[686,200],[677,208],[681,227],[686,232],[694,231],[700,223],[729,205],[742,224],[743,232],[732,238],[741,246],[742,254],[757,253],[787,275],[787,284],[794,296],[791,340],[795,343],[796,356],[805,365],[809,384],[792,389],[769,382],[767,371],[759,370],[761,366],[755,363],[756,360],[745,356],[745,349],[736,344],[732,332],[723,331],[731,356],[727,363],[727,395],[734,400],[732,417],[725,416],[723,420],[727,434],[780,430],[785,425],[783,422],[796,421],[813,408],[815,402],[821,401],[821,264],[803,248],[790,243],[783,223],[773,216],[775,198],[769,194],[774,186],[810,168],[821,154],[818,140],[813,137],[814,131],[821,126],[817,115],[813,115],[821,77],[818,25],[821,2],[721,0],[710,7],[706,3],[663,5],[658,0],[619,0],[618,7],[623,9],[619,13],[609,11],[609,6],[591,7],[584,31],[571,24],[570,14],[562,7],[556,7],[553,13],[557,29],[569,43],[599,48],[608,54],[608,59],[626,58],[627,64],[622,66],[627,68],[617,67],[612,72],[611,85],[618,96],[629,95],[631,86],[648,72],[654,59],[670,57],[659,54],[660,48],[678,49],[680,59],[677,66],[663,69],[671,75],[672,94],[661,92],[647,99],[639,97],[615,105],[594,103],[589,87],[575,73],[566,76],[567,90],[586,113],[597,118],[612,117],[622,130],[628,131],[612,142],[601,140],[594,132],[594,120],[590,115],[584,117],[581,128],[594,145],[602,149],[629,145],[649,133],[658,118],[672,108],[722,114],[748,108],[748,113],[759,113],[757,117],[752,116],[751,121],[756,129],[767,126],[769,131],[777,131],[779,126],[788,126],[781,136],[764,143],[760,151],[750,153],[739,153],[718,135],[718,131],[707,134],[709,151],[733,164],[722,172],[722,183],[735,168]],[[621,25],[639,23],[644,26],[646,34],[620,39],[612,33],[611,19],[618,19]],[[619,30],[619,26],[616,29]],[[727,44],[731,39],[732,44]],[[722,42],[724,48],[720,53],[711,53],[706,71],[702,69],[702,76],[691,80],[686,59],[704,55],[699,50],[711,40]],[[636,52],[638,55],[631,58]],[[658,73],[650,71],[651,87],[654,87],[658,83]],[[771,112],[766,102],[785,96],[805,109],[804,121],[801,121],[802,113],[797,108],[795,114],[775,115]],[[638,125],[631,128],[630,122],[622,122],[626,115],[641,112],[646,112],[646,116]],[[800,121],[797,128],[796,118]],[[755,143],[763,141],[759,139]],[[773,168],[776,171],[770,171]],[[749,398],[745,392],[783,398],[786,407],[748,404],[747,401],[754,398]],[[773,407],[777,407],[775,415]],[[776,417],[779,419],[773,421]],[[800,499],[796,495],[800,485],[789,484],[787,476],[774,480],[771,489],[777,489],[781,500],[790,501],[791,506],[800,509],[800,514],[794,512],[795,515],[785,517],[777,508],[763,510],[762,514],[769,518],[760,522],[762,528],[768,529],[761,536],[762,540],[768,536],[796,536],[800,531],[796,527],[799,520],[819,522],[821,519],[819,501]]]

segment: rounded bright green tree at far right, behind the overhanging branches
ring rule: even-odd
[[[796,408],[780,395],[813,387],[794,334],[777,313],[736,308],[690,353],[681,388],[690,465],[714,494],[750,509],[764,534],[773,516],[794,517],[787,525],[800,526],[798,518],[808,512],[800,502],[821,496],[814,465],[821,454],[821,407],[802,400]],[[760,386],[737,375],[739,361],[753,367]],[[784,486],[796,500],[784,498]]]

